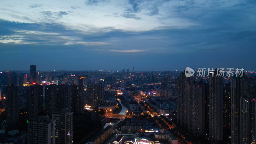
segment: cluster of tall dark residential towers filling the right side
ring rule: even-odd
[[[223,126],[231,125],[232,144],[255,143],[256,93],[252,80],[245,75],[233,77],[231,87],[224,87],[223,77],[216,71],[208,80],[192,81],[181,73],[177,80],[178,123],[213,143],[222,143]]]

